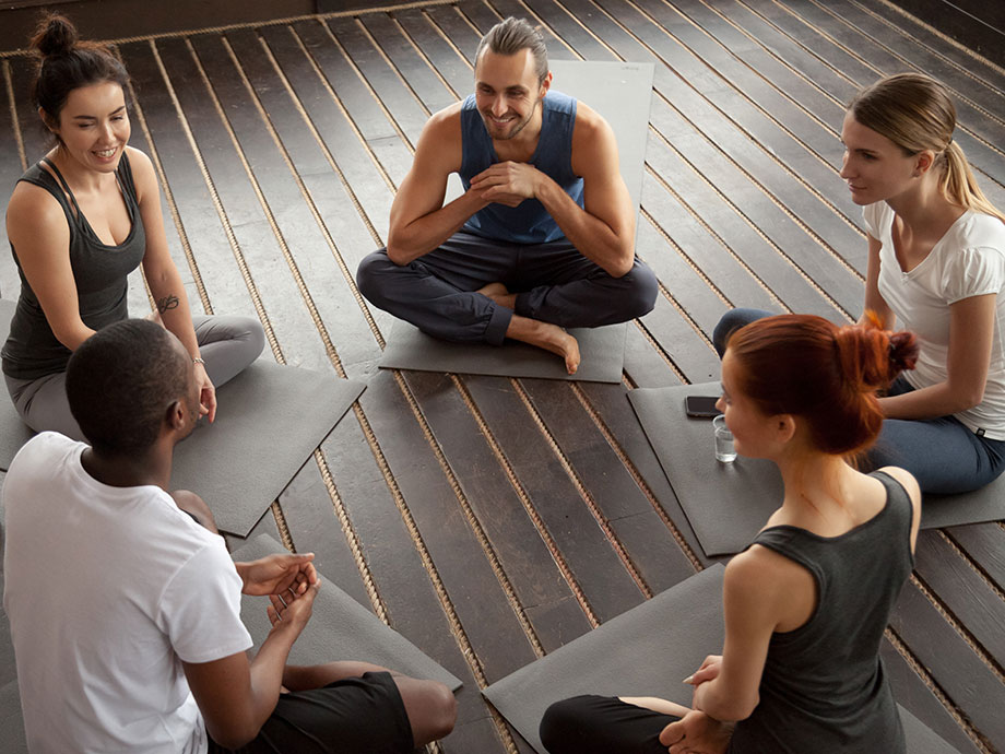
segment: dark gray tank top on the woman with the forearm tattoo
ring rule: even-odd
[[[84,325],[93,330],[100,330],[129,316],[126,278],[137,269],[146,252],[146,233],[140,216],[129,157],[123,153],[116,170],[116,180],[126,200],[131,223],[129,235],[118,246],[102,243],[80,211],[76,199],[62,175],[51,162],[44,162],[56,174],[56,178],[38,163],[28,168],[19,180],[40,186],[56,197],[56,201],[62,207],[70,225],[70,267],[76,284],[80,316]],[[63,372],[71,352],[52,333],[35,292],[21,270],[13,244],[11,252],[21,275],[21,296],[11,322],[10,337],[0,351],[3,374],[16,379],[38,379]]]

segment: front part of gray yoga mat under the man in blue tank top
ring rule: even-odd
[[[559,356],[527,343],[513,340],[507,340],[500,346],[451,343],[427,335],[407,322],[395,320],[379,366],[385,369],[452,372],[462,375],[620,382],[625,330],[624,323],[569,330],[579,341],[582,358],[576,374],[569,375]]]

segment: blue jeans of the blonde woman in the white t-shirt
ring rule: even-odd
[[[770,316],[770,311],[761,309],[726,311],[712,333],[720,357],[734,330]],[[913,389],[901,376],[890,386],[888,394],[900,396]],[[887,419],[865,460],[868,469],[885,466],[907,469],[925,493],[971,492],[1005,471],[1005,440],[981,437],[955,416]]]

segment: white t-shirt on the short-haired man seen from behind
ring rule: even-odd
[[[33,754],[206,751],[181,660],[246,650],[223,538],[156,486],[110,487],[45,432],[3,485],[3,608]]]

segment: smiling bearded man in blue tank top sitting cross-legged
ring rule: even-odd
[[[445,340],[512,338],[579,367],[564,328],[650,311],[617,143],[594,110],[551,91],[541,35],[507,19],[478,45],[475,93],[436,113],[391,207],[388,245],[356,281],[366,298]],[[458,173],[464,193],[444,203]]]

